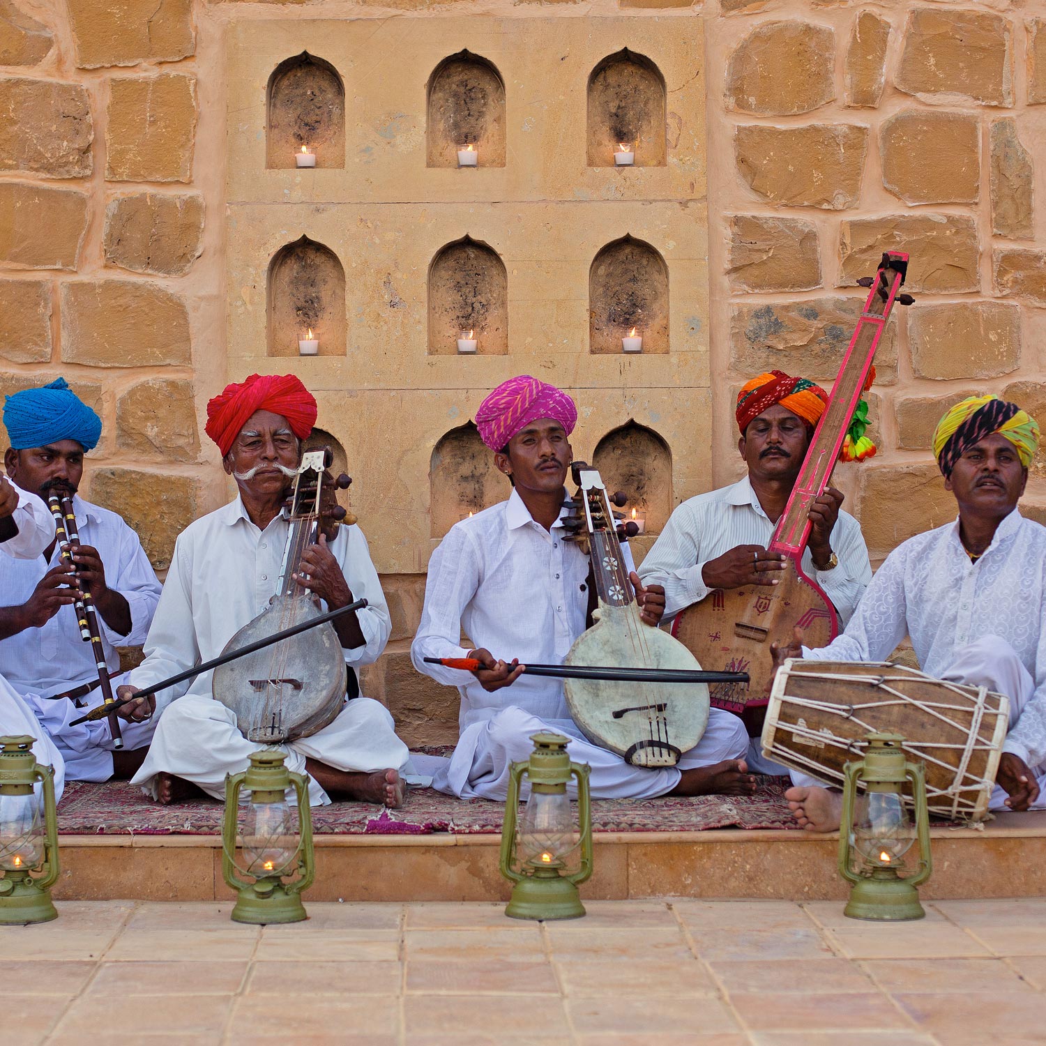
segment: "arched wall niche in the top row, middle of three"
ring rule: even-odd
[[[427,165],[456,167],[473,144],[481,167],[505,165],[505,85],[494,64],[470,51],[444,59],[429,77]]]

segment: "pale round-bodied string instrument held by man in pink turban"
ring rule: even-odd
[[[567,540],[588,551],[595,582],[593,626],[564,659],[567,666],[674,668],[701,665],[667,632],[643,623],[629,581],[611,500],[595,469],[572,465],[577,495],[564,520]],[[708,723],[704,683],[567,679],[567,706],[585,735],[638,767],[672,767],[701,740]]]

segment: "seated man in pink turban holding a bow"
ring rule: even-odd
[[[429,756],[426,769],[442,792],[503,800],[511,764],[527,757],[530,736],[552,730],[570,737],[571,757],[591,767],[597,798],[748,794],[754,782],[741,759],[748,737],[728,712],[712,710],[704,736],[682,753],[678,768],[636,767],[585,737],[570,718],[562,680],[525,670],[562,663],[588,627],[589,560],[565,540],[563,525],[576,422],[570,396],[526,374],[499,385],[476,412],[480,438],[513,492],[455,524],[429,561],[411,659],[418,672],[458,687],[461,733],[454,754]],[[622,554],[642,619],[656,627],[664,589],[643,588],[627,544]],[[427,658],[472,658],[480,666],[470,673]]]

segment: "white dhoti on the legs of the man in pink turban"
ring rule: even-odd
[[[573,720],[540,719],[510,706],[464,728],[454,754],[435,769],[432,787],[462,799],[504,800],[511,764],[529,757],[533,751],[530,736],[540,730],[572,738],[567,746],[570,758],[592,768],[589,783],[593,799],[649,799],[665,795],[679,783],[681,770],[738,759],[748,748],[748,734],[741,720],[713,708],[704,736],[683,753],[677,767],[647,770],[593,745]]]

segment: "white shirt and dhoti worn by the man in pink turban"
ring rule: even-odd
[[[411,659],[418,672],[457,686],[461,696],[458,744],[449,761],[434,765],[433,783],[440,791],[504,799],[509,764],[529,755],[529,736],[542,729],[574,738],[570,756],[591,766],[597,798],[664,795],[679,782],[676,768],[633,767],[585,740],[567,710],[563,680],[524,673],[510,687],[488,693],[471,673],[423,660],[464,657],[463,630],[473,647],[485,647],[495,657],[562,663],[585,631],[589,595],[588,558],[563,541],[565,532],[562,520],[545,530],[513,491],[507,501],[451,527],[429,561]],[[679,766],[738,758],[747,746],[741,720],[712,709],[704,737]]]

